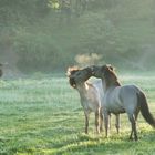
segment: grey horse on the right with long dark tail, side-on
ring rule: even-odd
[[[92,75],[102,79],[103,83],[103,115],[106,136],[108,132],[108,113],[114,113],[116,115],[127,113],[132,126],[130,140],[133,138],[134,134],[134,140],[137,141],[136,120],[140,111],[145,121],[155,127],[155,118],[149,112],[146,96],[142,90],[135,85],[122,86],[111,65],[93,65],[90,66],[90,69],[92,70]]]

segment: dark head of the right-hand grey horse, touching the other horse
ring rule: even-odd
[[[108,72],[113,72],[114,68],[111,64],[106,64],[106,65],[102,65],[102,66],[96,66],[96,65],[92,65],[90,66],[91,72],[92,72],[92,76],[102,79],[104,76],[106,76],[106,74]]]

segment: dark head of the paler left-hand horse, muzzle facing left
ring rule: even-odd
[[[76,89],[78,84],[84,83],[92,75],[90,68],[85,69],[69,68],[66,74],[69,76],[69,82],[71,86],[73,86],[74,89]]]

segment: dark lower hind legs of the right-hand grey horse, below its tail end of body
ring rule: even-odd
[[[137,132],[136,132],[136,121],[135,116],[133,114],[128,115],[128,120],[132,124],[132,132],[130,135],[130,140],[133,140],[133,133],[134,133],[134,140],[137,141]]]

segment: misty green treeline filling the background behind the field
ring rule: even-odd
[[[0,61],[23,72],[153,69],[154,0],[0,0]]]

